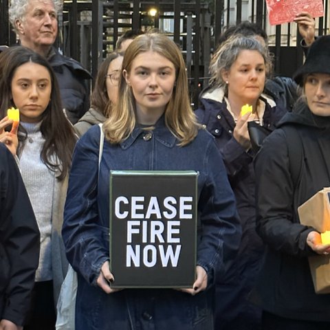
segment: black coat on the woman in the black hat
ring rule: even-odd
[[[278,126],[255,161],[256,225],[267,251],[254,298],[278,316],[330,322],[330,294],[315,294],[307,259],[315,254],[306,243],[313,228],[301,225],[297,212],[330,186],[330,118],[314,116],[300,103]],[[287,126],[300,143],[288,137]]]

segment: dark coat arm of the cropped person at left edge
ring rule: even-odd
[[[19,168],[0,143],[0,320],[24,324],[39,245],[38,225]]]

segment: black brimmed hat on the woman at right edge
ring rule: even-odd
[[[306,74],[330,74],[330,35],[311,44],[305,63],[294,74],[296,83],[302,86]]]

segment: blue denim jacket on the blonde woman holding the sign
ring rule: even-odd
[[[78,141],[65,205],[63,239],[69,263],[78,272],[76,330],[109,329],[104,324],[108,321],[111,329],[146,329],[143,322],[153,323],[147,329],[209,329],[213,274],[224,272],[225,264],[234,259],[241,235],[214,138],[200,130],[190,144],[178,146],[161,118],[151,132],[136,127],[120,144],[104,141],[98,173],[99,144],[98,126]],[[124,289],[107,295],[96,287],[100,268],[109,259],[109,170],[199,172],[197,265],[208,274],[206,292],[190,296],[173,289]]]

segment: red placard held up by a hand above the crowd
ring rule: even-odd
[[[266,0],[271,25],[294,21],[296,14],[309,12],[312,17],[323,16],[322,0]]]

